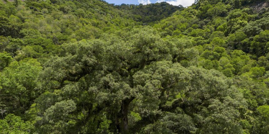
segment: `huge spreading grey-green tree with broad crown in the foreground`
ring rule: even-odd
[[[133,133],[178,109],[190,120],[205,120],[190,122],[199,124],[193,130],[241,131],[235,117],[244,99],[229,79],[218,71],[173,63],[177,46],[149,27],[125,34],[63,44],[59,55],[48,61],[40,75],[40,90],[49,92],[42,95],[49,102],[44,105],[38,99],[33,107],[41,117],[40,133],[67,133],[71,128],[86,133]],[[130,125],[131,112],[141,119],[132,119]],[[57,113],[64,115],[54,116]],[[212,121],[213,117],[221,122]]]

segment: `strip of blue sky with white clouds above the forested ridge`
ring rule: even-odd
[[[155,2],[163,2],[166,1],[172,5],[178,6],[182,5],[184,7],[190,6],[192,3],[194,3],[194,0],[105,0],[108,3],[114,3],[116,5],[120,5],[122,3],[124,4],[149,4],[149,3],[155,3]]]

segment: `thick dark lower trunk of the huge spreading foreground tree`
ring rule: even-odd
[[[119,112],[120,117],[120,132],[121,134],[129,134],[129,126],[128,126],[128,108],[130,102],[134,99],[134,97],[125,99],[122,101],[121,109]]]

